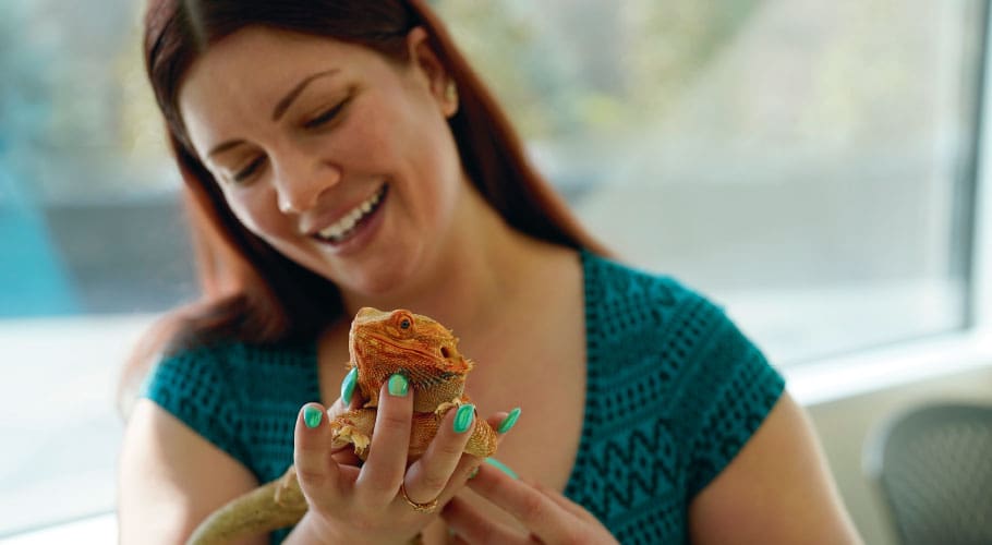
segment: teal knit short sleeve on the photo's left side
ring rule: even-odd
[[[141,395],[244,463],[247,452],[240,438],[244,425],[230,384],[225,380],[229,371],[222,350],[180,352],[158,362]]]

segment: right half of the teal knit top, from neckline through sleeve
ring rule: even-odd
[[[586,255],[588,393],[565,491],[621,543],[688,543],[687,511],[784,380],[714,304]]]

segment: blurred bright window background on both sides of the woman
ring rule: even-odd
[[[979,0],[438,0],[533,159],[626,261],[724,305],[861,465],[931,399],[992,403]],[[141,2],[0,3],[0,537],[98,520],[114,387],[197,293]],[[26,542],[25,542],[26,543]]]

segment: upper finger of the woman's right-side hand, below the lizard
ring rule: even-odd
[[[534,485],[513,479],[493,465],[480,467],[469,486],[546,543],[573,542],[578,537],[572,535],[577,530],[571,513]]]

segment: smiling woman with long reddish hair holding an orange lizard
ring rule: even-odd
[[[124,543],[181,541],[293,462],[286,543],[857,541],[781,377],[705,299],[604,257],[423,2],[156,0],[146,23],[206,296],[129,417]],[[402,378],[368,460],[331,456],[304,416],[346,404],[362,306],[458,334],[480,411],[523,411],[498,451],[523,479],[469,480],[453,414],[407,469]]]

